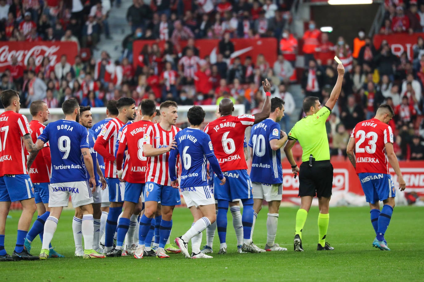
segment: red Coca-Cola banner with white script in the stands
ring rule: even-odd
[[[61,55],[67,55],[67,62],[73,65],[74,58],[78,55],[78,46],[76,42],[71,41],[9,41],[2,42],[0,46],[0,72],[6,70],[13,56],[24,66],[27,65],[28,59],[33,57],[39,66],[44,57],[49,57],[51,65],[59,63]]]

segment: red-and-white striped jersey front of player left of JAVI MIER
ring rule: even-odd
[[[172,126],[170,131],[163,130],[159,123],[155,123],[152,126],[149,126],[147,131],[144,134],[144,144],[150,144],[153,148],[164,148],[168,147],[172,140],[180,131],[181,128]],[[149,157],[147,160],[147,171],[146,171],[146,182],[154,182],[160,185],[171,186],[171,179],[169,177],[168,171],[168,159],[169,152],[155,156]],[[177,159],[177,164],[179,162],[179,157]],[[178,175],[178,166],[175,168],[176,175]]]

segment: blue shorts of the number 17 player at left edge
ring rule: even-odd
[[[34,197],[28,174],[0,177],[0,202],[16,202]]]

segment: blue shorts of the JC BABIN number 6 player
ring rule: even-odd
[[[223,172],[227,178],[224,185],[214,174],[214,195],[217,200],[251,199],[253,197],[252,182],[247,174],[247,170],[229,170]]]

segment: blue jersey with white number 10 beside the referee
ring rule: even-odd
[[[273,139],[280,139],[280,125],[270,118],[252,127],[249,140],[249,147],[253,148],[252,182],[283,183],[280,150],[274,151],[269,144]]]

